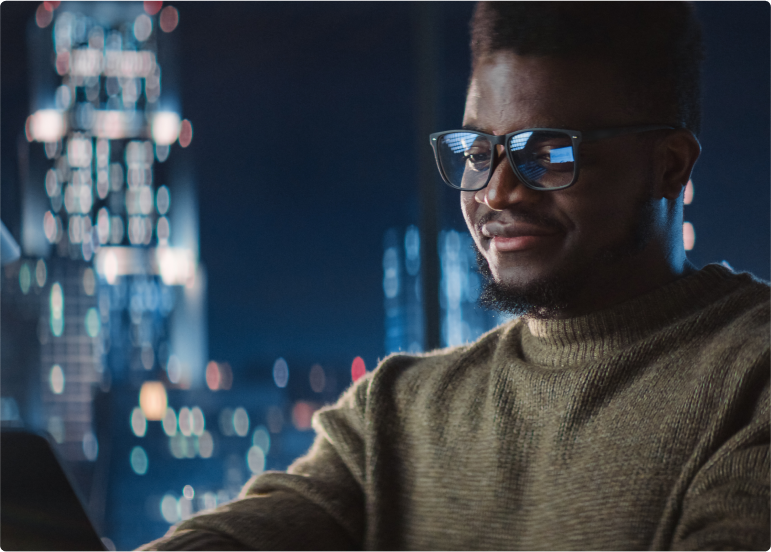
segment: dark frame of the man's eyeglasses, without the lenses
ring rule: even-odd
[[[490,183],[490,180],[493,177],[493,173],[495,172],[495,168],[498,165],[499,159],[501,157],[500,154],[498,154],[498,150],[496,149],[496,146],[503,145],[504,149],[506,150],[506,157],[509,160],[509,165],[514,171],[514,174],[517,175],[517,178],[519,178],[519,180],[525,186],[527,186],[531,190],[537,190],[539,192],[555,192],[557,190],[564,190],[565,188],[569,188],[570,186],[575,184],[576,181],[578,180],[578,173],[581,166],[580,156],[579,156],[579,146],[581,145],[581,142],[597,142],[599,140],[605,140],[606,138],[615,138],[616,136],[623,136],[625,134],[638,134],[641,132],[650,132],[652,130],[675,130],[676,128],[678,127],[673,127],[669,125],[643,125],[643,126],[631,126],[631,127],[604,128],[604,129],[592,130],[589,132],[581,132],[578,130],[567,130],[564,128],[523,128],[521,130],[510,132],[508,134],[499,134],[499,135],[486,134],[484,132],[479,132],[476,130],[460,129],[460,130],[445,130],[442,132],[434,132],[433,134],[429,135],[429,138],[431,140],[431,147],[434,150],[434,159],[436,159],[436,165],[439,168],[439,174],[442,175],[442,180],[444,180],[445,183],[451,188],[455,188],[456,190],[461,190],[462,192],[478,192],[479,190],[484,189]],[[544,188],[542,186],[536,186],[534,183],[530,182],[530,179],[528,179],[524,174],[522,174],[522,172],[517,168],[516,164],[514,163],[514,159],[512,158],[511,148],[509,147],[508,144],[510,143],[511,139],[514,138],[515,136],[524,134],[526,132],[536,132],[536,131],[561,132],[570,136],[570,140],[573,146],[573,178],[570,180],[570,183],[565,184],[564,186],[558,186],[555,188]],[[490,170],[484,185],[480,186],[479,188],[461,188],[459,186],[455,186],[454,184],[451,184],[450,180],[447,178],[447,174],[442,168],[442,163],[439,159],[439,151],[437,149],[439,138],[455,132],[465,132],[467,134],[476,134],[478,136],[484,136],[485,138],[490,140],[490,143],[492,144],[492,163],[490,166]]]

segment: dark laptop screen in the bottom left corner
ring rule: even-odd
[[[0,551],[106,552],[43,435],[0,430]]]

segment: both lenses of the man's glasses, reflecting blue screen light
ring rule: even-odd
[[[446,180],[462,190],[479,190],[487,183],[493,146],[475,132],[451,132],[437,141],[437,156]],[[509,139],[507,147],[520,175],[534,188],[561,188],[573,181],[573,142],[566,132],[526,131]]]

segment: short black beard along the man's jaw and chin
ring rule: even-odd
[[[479,304],[483,308],[514,317],[558,318],[584,289],[593,272],[641,253],[653,240],[655,226],[653,190],[650,187],[638,200],[634,220],[618,241],[605,246],[591,257],[579,257],[572,263],[566,263],[566,266],[553,274],[524,284],[496,280],[487,259],[472,240],[471,246],[476,254],[478,272],[482,276]]]

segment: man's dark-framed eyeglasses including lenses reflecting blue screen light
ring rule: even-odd
[[[444,181],[458,190],[475,192],[490,182],[503,144],[506,157],[522,183],[533,190],[564,190],[578,180],[578,146],[651,130],[673,130],[666,125],[619,127],[591,132],[557,128],[527,128],[496,136],[472,130],[431,134],[431,146]]]

